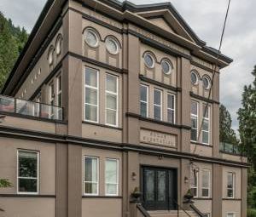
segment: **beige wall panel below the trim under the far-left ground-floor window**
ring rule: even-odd
[[[55,217],[55,198],[0,197],[1,217]]]

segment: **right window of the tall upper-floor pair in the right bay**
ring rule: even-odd
[[[210,106],[203,104],[202,143],[210,143]]]

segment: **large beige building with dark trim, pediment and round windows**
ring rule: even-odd
[[[0,97],[0,216],[245,217],[247,159],[218,139],[231,62],[171,3],[49,0]]]

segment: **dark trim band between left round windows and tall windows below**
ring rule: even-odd
[[[120,74],[128,73],[128,70],[126,70],[126,69],[121,69],[121,68],[118,68],[118,67],[110,66],[110,65],[108,65],[106,63],[102,63],[100,61],[90,59],[90,58],[85,57],[85,56],[80,55],[80,54],[75,54],[73,52],[68,52],[67,54],[72,56],[72,57],[74,57],[74,58],[77,58],[79,60],[83,60],[86,63],[90,63],[90,64],[93,64],[93,65],[96,65],[96,66],[108,69],[110,71],[119,72]]]

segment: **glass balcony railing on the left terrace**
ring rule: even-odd
[[[15,113],[23,116],[63,120],[63,108],[44,103],[15,99],[0,95],[0,112]]]

